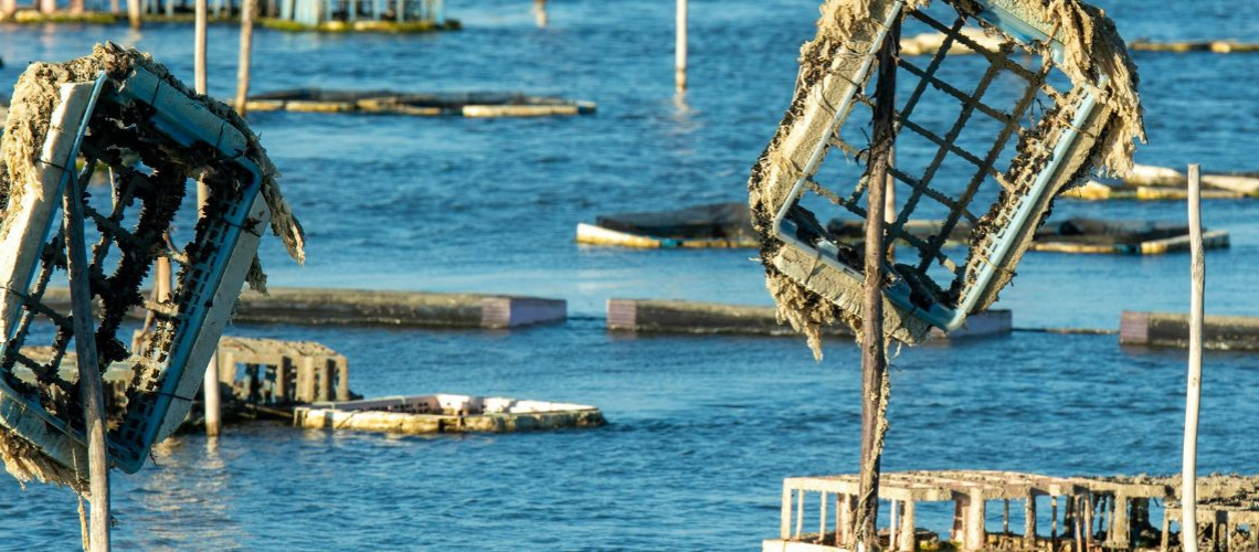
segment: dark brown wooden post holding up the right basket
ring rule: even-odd
[[[875,86],[874,141],[870,146],[870,166],[866,174],[866,254],[865,303],[861,327],[861,468],[857,495],[856,542],[851,548],[871,551],[879,548],[879,463],[883,454],[885,378],[888,377],[886,342],[883,332],[883,265],[884,248],[884,192],[888,163],[895,142],[894,117],[896,99],[896,49],[900,40],[900,23],[893,25],[879,49],[879,80]]]

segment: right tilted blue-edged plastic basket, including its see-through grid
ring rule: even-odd
[[[852,4],[823,6],[792,109],[753,170],[753,214],[765,236],[769,277],[786,275],[856,324],[862,245],[840,243],[826,221],[865,220],[878,52],[896,39],[896,26],[906,38],[935,36],[929,55],[896,58],[889,187],[898,201],[886,234],[889,246],[899,244],[899,263],[886,267],[885,327],[913,343],[930,326],[956,329],[996,301],[1054,195],[1089,174],[1115,141],[1131,145],[1139,136],[1132,132],[1139,133],[1139,108],[1122,40],[1083,4],[1063,3],[1079,14],[1070,24],[1051,21],[1040,1],[958,0],[928,9],[875,0],[869,14]],[[1097,63],[1081,68],[1081,54]],[[833,158],[835,150],[842,158]],[[1107,163],[1126,170],[1131,147],[1126,152],[1127,160]],[[940,231],[920,236],[906,229],[924,218],[943,220]],[[964,246],[951,248],[958,225],[973,230]],[[781,308],[788,303],[774,293]]]

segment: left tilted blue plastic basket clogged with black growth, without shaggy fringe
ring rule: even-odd
[[[8,197],[0,243],[0,424],[63,466],[86,466],[77,385],[60,367],[72,339],[83,336],[74,336],[69,316],[43,299],[65,267],[59,200],[69,179],[78,179],[82,190],[98,163],[110,167],[112,204],[93,209],[84,201],[84,223],[98,238],[88,260],[99,367],[136,362],[126,416],[108,431],[110,460],[127,473],[140,469],[150,446],[186,416],[271,216],[261,194],[263,171],[247,155],[251,138],[212,112],[208,101],[146,67],[137,62],[126,74],[62,84],[33,186],[20,196],[10,190]],[[194,238],[170,249],[165,234],[196,179],[210,189],[209,201],[191,219],[178,219],[195,221]],[[140,295],[157,251],[181,265],[172,299],[160,303]],[[151,314],[155,337],[128,351],[116,332],[135,307]],[[21,351],[31,345],[37,319],[55,327],[50,362]]]

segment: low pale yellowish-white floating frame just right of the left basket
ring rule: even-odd
[[[293,425],[399,434],[510,433],[607,424],[599,409],[565,402],[467,395],[413,395],[321,402],[293,411]]]

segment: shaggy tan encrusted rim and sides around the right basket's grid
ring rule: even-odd
[[[1094,170],[1100,168],[1117,175],[1128,172],[1132,167],[1133,142],[1143,141],[1144,133],[1137,97],[1136,69],[1113,23],[1100,10],[1078,0],[946,0],[946,3],[959,18],[967,18],[969,24],[977,24],[988,33],[1003,38],[1000,50],[986,54],[993,64],[998,63],[997,57],[1003,58],[1013,49],[1022,49],[1040,55],[1044,67],[1060,70],[1071,84],[1069,91],[1047,93],[1053,106],[1046,106],[1034,124],[1025,128],[1015,126],[1017,132],[1012,136],[1017,140],[1017,155],[1007,167],[992,167],[992,176],[1000,182],[1001,194],[1000,197],[986,200],[991,201],[991,207],[987,202],[983,204],[985,207],[977,211],[986,213],[982,218],[976,215],[976,219],[971,219],[976,223],[969,236],[971,249],[966,265],[953,270],[956,279],[938,284],[932,282],[924,270],[915,270],[914,267],[905,269],[903,265],[898,265],[889,277],[908,282],[915,294],[930,297],[929,302],[949,307],[957,307],[959,299],[969,293],[974,299],[973,307],[969,308],[969,313],[973,313],[991,306],[996,301],[997,292],[1012,278],[1013,268],[1027,248],[1035,226],[1047,213],[1054,192],[1078,184]],[[810,213],[802,205],[792,204],[794,201],[792,189],[798,181],[806,181],[808,189],[816,189],[817,184],[811,180],[813,174],[807,168],[810,160],[817,151],[825,160],[827,148],[840,142],[838,128],[852,116],[854,108],[859,107],[856,101],[846,103],[845,94],[850,93],[850,89],[856,89],[860,96],[860,91],[866,89],[867,80],[874,74],[869,64],[875,63],[867,58],[872,57],[872,47],[880,38],[884,21],[889,20],[896,4],[894,0],[831,0],[822,5],[817,36],[801,49],[801,69],[791,107],[784,113],[769,146],[753,166],[748,182],[753,223],[762,235],[760,260],[765,267],[767,288],[778,304],[779,318],[803,333],[815,356],[818,357],[820,331],[823,324],[845,323],[855,333],[860,332],[861,284],[851,273],[844,274],[825,265],[820,258],[820,249],[802,249],[776,235],[774,218],[784,206],[789,206],[793,220],[803,221],[805,228],[822,228],[822,224],[818,224],[821,214]],[[905,13],[924,10],[928,1],[906,0],[903,4],[900,18],[904,18]],[[1012,14],[1044,36],[1053,36],[1059,44],[1047,44],[1049,40],[1017,41],[1000,25],[980,18],[981,13],[991,15],[993,10]],[[1059,50],[1056,59],[1055,49]],[[918,80],[922,74],[908,74],[908,77]],[[1040,86],[1032,82],[1032,92],[1035,93]],[[1076,109],[1088,94],[1097,101],[1097,107],[1087,112],[1089,113],[1087,119],[1074,121]],[[838,112],[841,106],[847,108]],[[1026,109],[1026,106],[1020,106],[1020,109]],[[1017,123],[1020,111],[1011,109],[1011,112],[1015,114],[1006,118],[1011,119],[1011,123]],[[898,124],[904,122],[900,117],[901,113],[898,111]],[[962,122],[964,123],[964,118]],[[857,123],[865,124],[866,121]],[[1069,142],[1070,147],[1060,152],[1063,155],[1051,163],[1054,147],[1065,132],[1078,132],[1079,138],[1064,141]],[[855,146],[852,150],[866,147],[852,146]],[[942,143],[940,147],[943,151],[952,145]],[[997,151],[1000,152],[1000,148]],[[935,163],[938,162],[937,160]],[[812,166],[812,171],[816,171],[817,163]],[[1051,192],[1032,205],[1032,224],[1020,228],[1017,235],[1011,234],[1015,239],[1008,254],[996,263],[990,262],[983,254],[991,240],[1011,225],[1015,210],[1025,202],[1022,194],[1034,180],[1046,172],[1049,166],[1053,167],[1053,174],[1049,175]],[[865,181],[864,179],[857,181],[857,177],[852,180],[856,182],[859,196]],[[830,199],[832,202],[836,201],[833,196]],[[966,201],[957,201],[953,207],[956,215],[958,211],[966,211],[966,202],[971,197],[967,195],[964,199]],[[908,211],[903,215],[908,216]],[[823,234],[805,239],[806,241],[812,239],[816,244],[817,240],[826,238]],[[860,272],[860,263],[855,262],[860,255],[851,253],[854,251],[849,251],[846,258],[846,253],[841,249],[838,262],[852,268],[852,272]],[[928,257],[930,255],[924,254],[924,259]],[[985,263],[996,265],[992,283],[978,290],[971,289],[976,272]],[[885,333],[906,343],[923,339],[930,326],[917,314],[919,307],[929,302],[915,302],[913,308],[903,308],[904,304],[894,304],[885,298]]]

